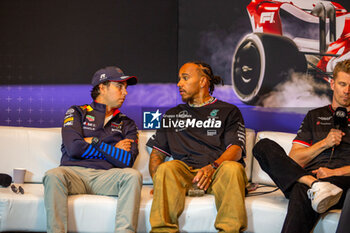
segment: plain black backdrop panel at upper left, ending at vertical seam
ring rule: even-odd
[[[107,65],[175,82],[177,0],[1,0],[0,85],[84,84]]]

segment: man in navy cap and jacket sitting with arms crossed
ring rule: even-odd
[[[137,78],[111,66],[98,70],[91,83],[94,101],[67,110],[61,165],[43,178],[47,232],[67,232],[67,198],[75,194],[118,196],[115,232],[136,231],[142,177],[131,167],[138,155],[137,127],[118,109]]]

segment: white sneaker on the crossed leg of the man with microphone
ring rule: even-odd
[[[317,213],[324,213],[330,207],[338,203],[343,190],[329,182],[315,182],[307,195],[311,200],[312,208]]]

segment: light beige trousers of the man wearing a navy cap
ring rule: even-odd
[[[43,183],[48,233],[67,232],[67,199],[74,194],[118,196],[115,232],[136,232],[142,176],[135,169],[62,166],[47,171]]]

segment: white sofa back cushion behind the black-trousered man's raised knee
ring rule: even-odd
[[[277,142],[288,154],[290,149],[292,148],[292,141],[295,138],[296,134],[292,133],[282,133],[282,132],[273,132],[273,131],[262,131],[259,132],[256,136],[256,142],[263,138],[271,139]],[[267,185],[275,185],[275,183],[271,180],[269,175],[264,172],[258,161],[253,158],[253,170],[252,170],[252,182],[259,184],[267,184]]]

